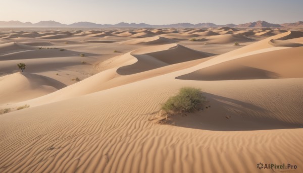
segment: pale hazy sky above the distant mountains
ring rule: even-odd
[[[0,7],[0,21],[33,23],[240,24],[265,20],[281,24],[303,20],[303,0],[0,0]]]

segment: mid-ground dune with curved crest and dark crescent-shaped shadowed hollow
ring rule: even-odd
[[[171,55],[174,56],[174,59],[167,57]],[[101,68],[104,70],[99,74],[57,92],[37,99],[28,100],[24,104],[28,103],[31,106],[46,104],[159,76],[161,74],[177,71],[178,69],[180,70],[185,67],[194,66],[196,65],[196,62],[206,61],[199,59],[203,59],[210,55],[212,54],[198,52],[177,44],[144,47],[105,61],[99,65],[102,66]],[[177,65],[165,68],[165,66],[172,64]],[[157,71],[156,69],[158,68],[161,68],[161,70]]]

